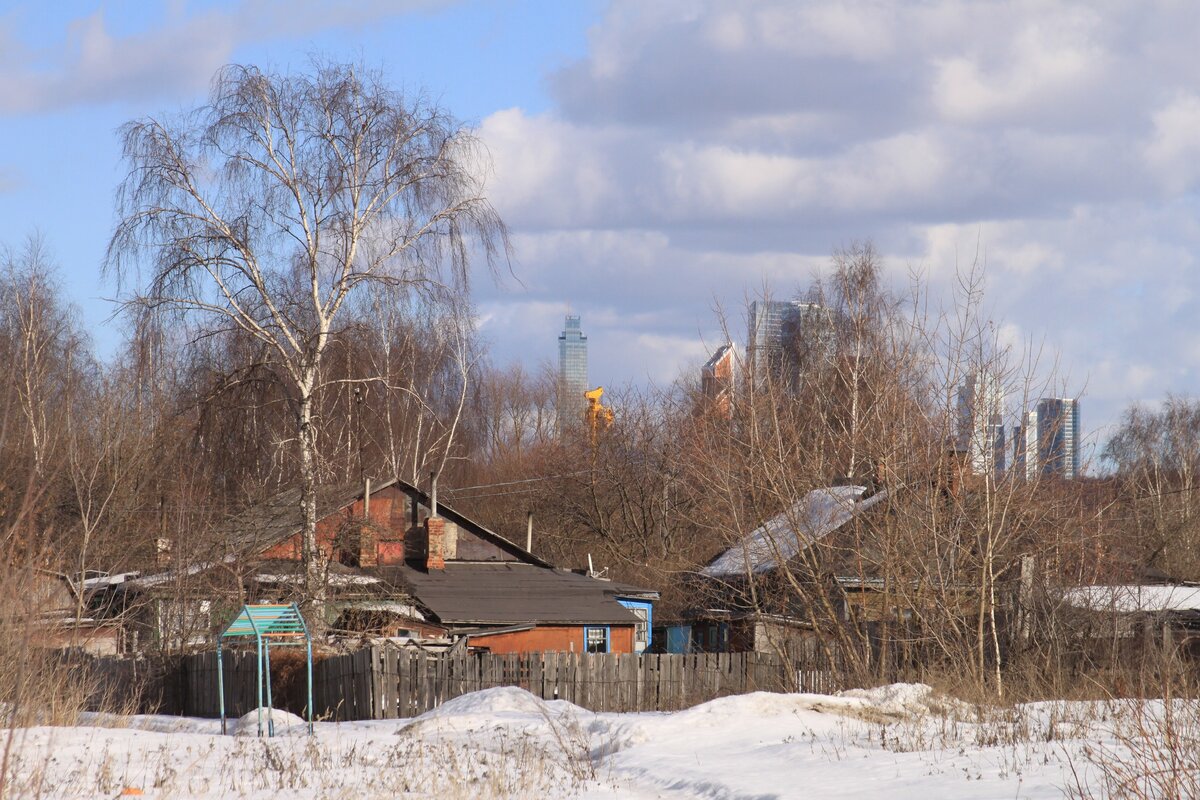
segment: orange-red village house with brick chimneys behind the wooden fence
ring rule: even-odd
[[[658,593],[556,567],[402,480],[325,491],[318,515],[335,631],[492,652],[649,645]],[[232,519],[220,558],[125,581],[107,602],[137,609],[161,644],[203,644],[240,602],[298,596],[300,531],[299,497],[284,493]]]

